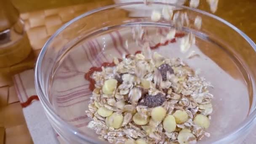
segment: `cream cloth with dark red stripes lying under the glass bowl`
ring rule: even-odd
[[[103,62],[112,61],[113,56],[122,57],[123,53],[134,53],[139,50],[138,46],[131,43],[129,43],[129,49],[126,48],[125,40],[131,40],[131,37],[125,37],[125,32],[129,31],[127,31],[127,29],[123,31],[115,31],[97,37],[96,39],[86,41],[80,48],[75,48],[74,51],[70,52],[69,56],[64,59],[59,70],[56,72],[57,76],[54,79],[52,92],[52,96],[54,96],[53,103],[58,107],[58,112],[64,120],[82,131],[88,131],[86,125],[90,119],[85,115],[85,109],[87,109],[87,103],[91,95],[89,82],[84,79],[84,74],[90,67],[100,67]],[[162,34],[165,32],[166,29],[161,29],[160,31]],[[160,40],[155,37],[154,43],[157,43],[157,41],[159,42]],[[101,53],[106,45],[107,49],[104,50],[104,53]],[[181,57],[185,59],[184,55],[177,52],[177,48],[179,48],[179,40],[177,40],[177,43],[162,46],[155,51],[158,51],[163,56]],[[244,83],[231,77],[216,63],[211,61],[208,56],[202,53],[197,46],[193,45],[191,49],[195,50],[196,53],[200,55],[200,58],[195,57],[190,59],[189,61],[186,61],[187,64],[194,69],[202,69],[202,75],[204,75],[207,80],[210,80],[215,86],[212,91],[215,96],[219,95],[220,91],[221,94],[224,95],[221,98],[221,101],[217,100],[218,103],[214,103],[213,101],[214,120],[212,121],[213,123],[209,131],[211,131],[211,129],[214,131],[214,129],[222,129],[225,126],[228,126],[223,123],[217,123],[218,120],[223,120],[222,115],[218,115],[218,112],[224,112],[225,115],[230,115],[232,120],[240,120],[240,117],[246,117],[246,114],[235,115],[233,109],[236,108],[227,106],[227,103],[230,102],[228,96],[241,96],[244,95],[244,93],[248,93],[247,91],[243,91],[246,89]],[[208,59],[210,62],[206,63],[205,61],[202,61],[202,59]],[[212,73],[214,73],[214,76]],[[216,77],[218,77],[218,79],[216,79]],[[219,80],[224,80],[222,85],[220,85]],[[33,69],[15,75],[13,81],[21,103],[26,102],[30,96],[36,95]],[[230,84],[234,85],[235,88],[232,91],[226,91],[230,88]],[[235,102],[237,102],[237,105],[247,104],[248,100],[241,99],[240,101],[232,101],[232,103]],[[219,107],[220,103],[221,107]],[[237,109],[235,113],[240,113],[240,110],[243,111],[244,109]],[[56,144],[58,143],[56,139],[58,139],[60,143],[63,143],[60,137],[52,130],[46,116],[43,115],[43,108],[39,101],[32,101],[32,104],[24,108],[23,111],[35,144]],[[67,111],[69,112],[67,113]],[[231,121],[227,121],[227,124],[232,123],[233,122]],[[212,136],[217,136],[219,133],[220,131],[214,131]],[[251,137],[254,139],[255,134]],[[251,141],[253,141],[253,139],[246,139],[243,144],[252,144]]]

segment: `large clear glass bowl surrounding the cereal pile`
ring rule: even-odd
[[[132,27],[147,27],[154,40],[166,35],[174,25],[150,19],[152,10],[170,5],[188,13],[190,25],[196,16],[203,19],[202,29],[182,27],[176,40],[154,49],[165,57],[179,57],[214,88],[213,114],[207,130],[210,138],[199,143],[241,143],[255,124],[256,45],[242,31],[210,13],[170,3],[121,3],[98,8],[64,24],[45,43],[35,68],[35,85],[45,113],[61,138],[72,144],[106,141],[86,127],[91,91],[85,73],[91,67],[101,67],[113,57],[121,58],[141,50],[141,43],[132,40]],[[143,8],[141,8],[143,7]],[[187,59],[179,50],[184,33],[196,35],[196,43],[189,51],[197,56]]]

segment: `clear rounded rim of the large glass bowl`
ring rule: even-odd
[[[175,6],[177,8],[184,8],[184,9],[188,9],[190,11],[195,11],[197,13],[202,13],[206,16],[212,17],[213,19],[219,20],[222,23],[226,24],[227,26],[229,26],[230,28],[232,28],[233,30],[235,30],[237,33],[239,33],[250,45],[251,47],[254,49],[254,51],[256,51],[256,44],[253,42],[253,40],[251,40],[251,38],[249,38],[247,35],[245,35],[244,32],[242,32],[240,29],[238,29],[237,27],[235,27],[234,25],[230,24],[228,21],[221,19],[218,16],[215,16],[211,13],[207,13],[205,11],[201,11],[199,9],[195,9],[195,8],[190,8],[187,6],[183,6],[183,5],[175,5],[172,3],[162,3],[162,2],[149,2],[151,4],[164,4],[164,5],[172,5]],[[134,5],[134,4],[143,4],[143,2],[131,2],[131,3],[119,3],[119,4],[113,4],[113,5],[108,5],[105,7],[101,7],[101,8],[96,8],[92,11],[88,11],[86,13],[83,13],[80,16],[77,16],[76,18],[72,19],[71,21],[68,21],[66,24],[64,24],[61,28],[59,28],[45,43],[45,45],[43,46],[38,58],[37,58],[37,62],[35,65],[35,88],[37,91],[37,94],[40,98],[40,101],[44,107],[44,110],[46,112],[48,112],[47,116],[48,118],[51,118],[51,120],[54,123],[58,123],[59,125],[62,125],[62,128],[64,131],[68,132],[69,134],[73,134],[76,135],[77,138],[86,141],[86,142],[90,142],[90,143],[94,143],[93,139],[84,136],[82,133],[79,132],[79,130],[77,128],[75,128],[72,125],[69,125],[67,122],[65,122],[64,120],[61,119],[61,117],[59,117],[55,112],[54,109],[51,107],[51,104],[48,102],[47,100],[47,96],[48,94],[43,91],[42,88],[42,75],[41,75],[41,64],[43,62],[43,57],[45,56],[45,52],[46,49],[48,48],[48,46],[51,44],[51,42],[54,40],[54,38],[59,35],[59,33],[61,33],[65,28],[67,28],[70,24],[74,23],[75,21],[82,19],[85,16],[91,15],[93,13],[99,12],[99,11],[103,11],[103,10],[107,10],[110,8],[116,8],[116,7],[120,7],[120,6],[125,6],[125,5]],[[255,87],[254,87],[254,82],[253,83],[253,91],[255,91]],[[256,97],[256,94],[253,93],[253,97]],[[253,111],[251,111],[251,114],[248,115],[248,117],[246,117],[246,119],[243,121],[243,123],[241,123],[238,128],[235,129],[235,131],[232,131],[230,133],[227,133],[226,135],[222,136],[218,141],[210,141],[210,143],[214,143],[214,144],[220,144],[223,143],[225,141],[227,141],[228,139],[231,139],[232,137],[235,138],[237,136],[241,136],[243,134],[243,132],[250,128],[250,126],[253,123],[256,123],[255,121],[256,119],[256,109],[253,109]],[[254,122],[255,121],[255,122]]]

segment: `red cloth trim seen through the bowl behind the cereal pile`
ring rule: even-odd
[[[176,33],[175,34],[175,37],[184,37],[184,33]],[[168,45],[169,43],[175,43],[176,42],[176,39],[173,38],[172,40],[166,40],[165,43],[157,43],[156,45],[154,46],[151,46],[150,49],[152,50],[155,50],[157,48],[159,48],[160,46],[163,46],[163,45]],[[138,53],[141,53],[141,51],[136,51],[135,54],[138,54]],[[129,57],[130,54],[127,54],[125,55],[125,57]],[[118,59],[120,62],[122,61],[122,59]],[[114,62],[104,62],[103,64],[101,64],[101,67],[114,67],[115,66],[115,63]],[[85,73],[85,80],[88,80],[90,82],[90,85],[89,85],[89,89],[90,91],[93,91],[94,88],[95,88],[95,80],[93,80],[93,78],[91,78],[91,75],[93,74],[93,72],[101,72],[102,69],[101,67],[91,67],[89,69],[89,71],[87,73]]]

